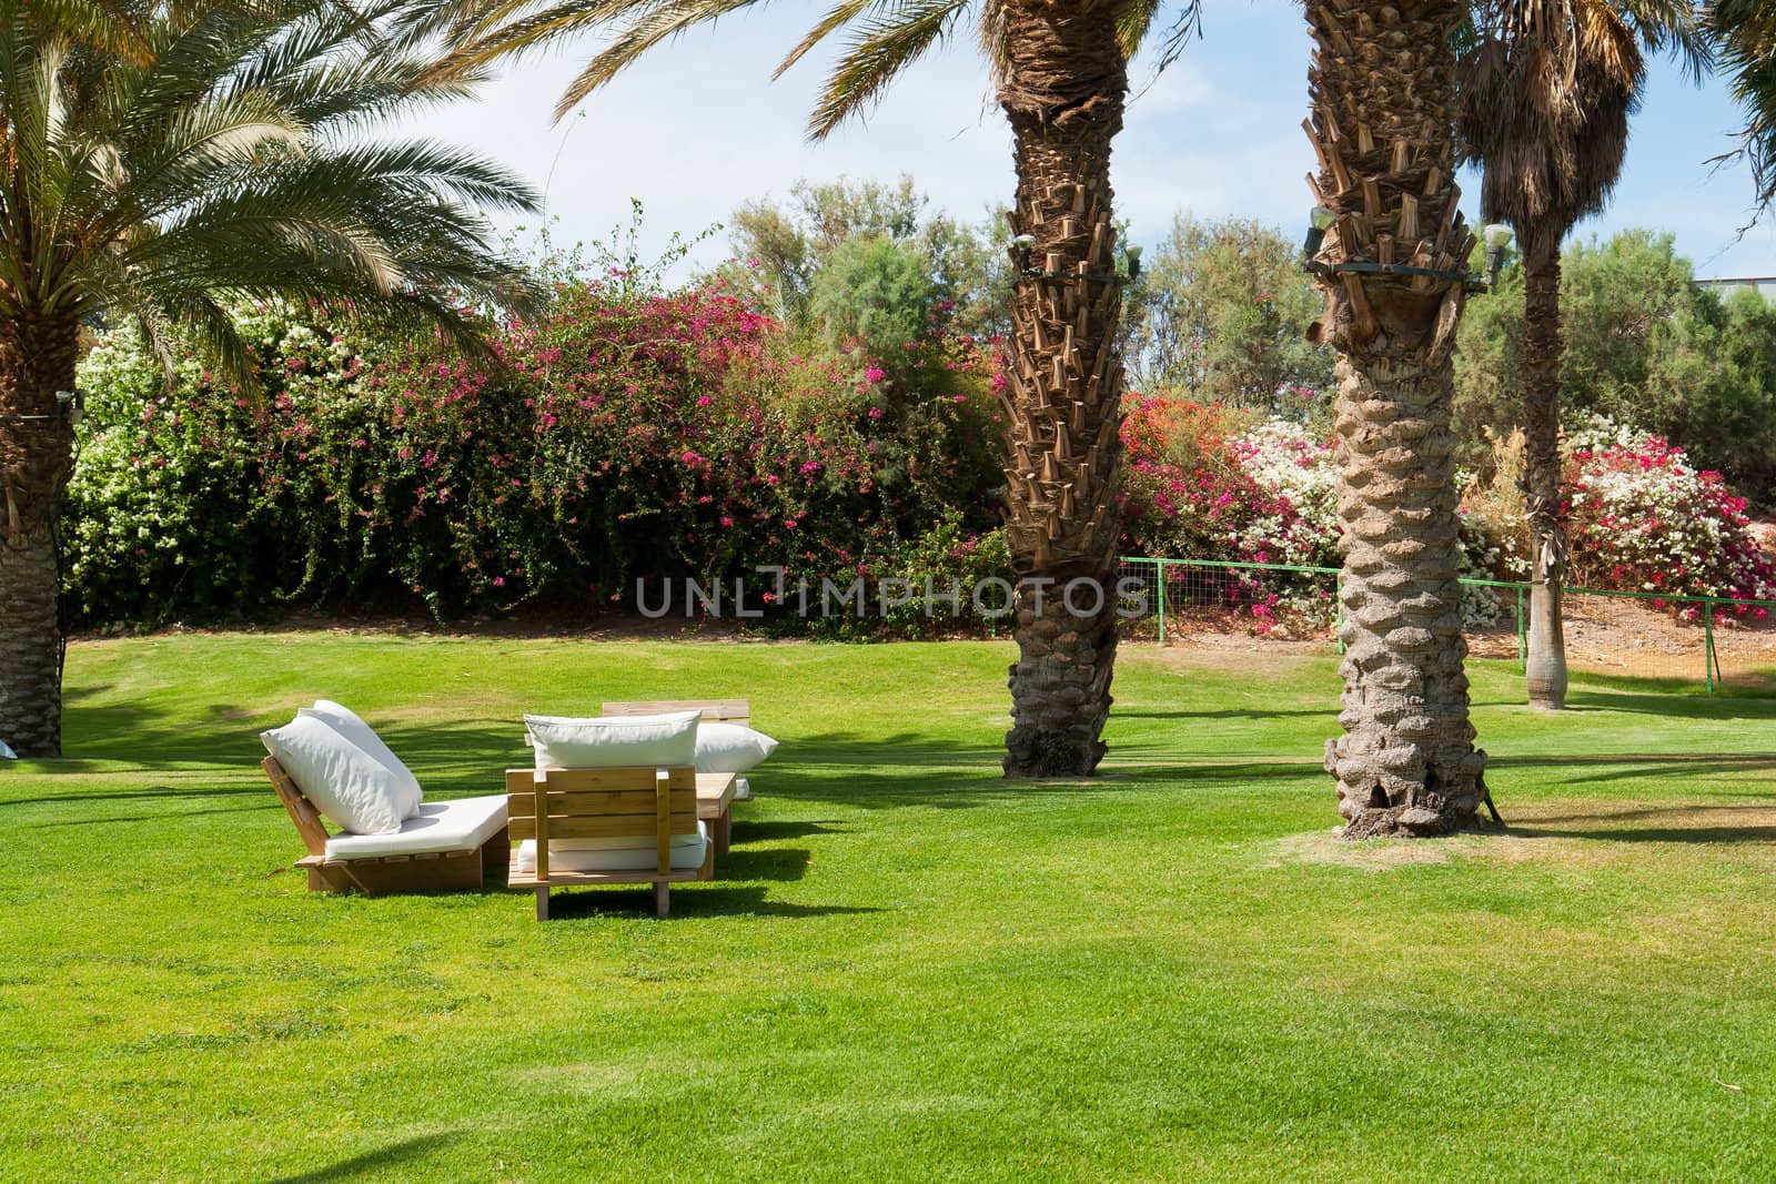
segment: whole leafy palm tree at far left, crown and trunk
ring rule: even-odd
[[[34,0],[0,18],[0,738],[21,754],[60,751],[55,529],[82,323],[137,318],[163,351],[179,328],[250,387],[231,300],[471,344],[464,305],[526,293],[471,211],[533,206],[520,181],[361,135],[460,92],[414,89],[421,62],[373,34],[391,7]]]

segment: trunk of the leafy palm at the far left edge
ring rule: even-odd
[[[76,341],[73,320],[0,318],[0,740],[20,756],[62,751],[55,520],[73,428],[55,392],[75,389]]]

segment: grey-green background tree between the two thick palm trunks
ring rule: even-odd
[[[1130,350],[1142,391],[1300,415],[1309,408],[1288,389],[1332,380],[1330,353],[1305,337],[1320,296],[1300,245],[1275,227],[1177,215],[1142,288]]]

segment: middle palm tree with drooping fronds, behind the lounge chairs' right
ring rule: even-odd
[[[643,53],[753,0],[433,0],[414,36],[453,30],[442,69],[472,69],[588,30],[611,34],[556,117]],[[819,138],[868,108],[964,18],[979,27],[1018,170],[1012,233],[1025,243],[1007,366],[1007,501],[1018,573],[1005,776],[1085,776],[1105,754],[1115,664],[1115,490],[1122,359],[1110,146],[1128,55],[1158,0],[840,0],[778,73],[840,28],[851,41],[810,119]],[[1162,67],[1197,25],[1185,0]]]

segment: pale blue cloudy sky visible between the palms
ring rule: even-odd
[[[671,231],[721,222],[749,197],[787,193],[797,178],[908,172],[934,206],[964,218],[1003,202],[1011,135],[966,37],[909,71],[865,124],[819,146],[803,138],[829,59],[769,78],[817,11],[778,4],[662,46],[561,124],[549,112],[590,46],[526,59],[481,103],[416,128],[547,181],[558,241],[606,238],[636,197],[646,208],[646,243],[659,249]],[[1114,183],[1138,241],[1160,238],[1176,211],[1257,217],[1291,234],[1305,222],[1307,51],[1295,4],[1250,0],[1209,4],[1204,37],[1158,78],[1149,62],[1135,64],[1138,96],[1117,140]],[[1655,62],[1614,202],[1577,233],[1648,225],[1675,233],[1698,275],[1776,275],[1776,220],[1737,238],[1751,218],[1748,172],[1705,163],[1732,147],[1735,126],[1719,82],[1696,89],[1673,64]],[[1474,217],[1479,186],[1469,181],[1463,206]],[[696,256],[721,257],[725,234]]]

